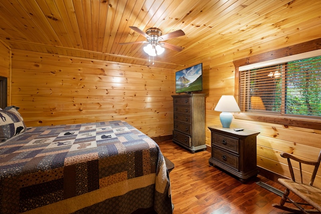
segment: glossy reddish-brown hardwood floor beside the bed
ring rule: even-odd
[[[265,182],[281,191],[284,187],[258,175],[243,184],[219,168],[209,165],[211,154],[192,154],[172,140],[157,143],[175,164],[170,173],[174,214],[179,213],[289,213],[274,208],[280,196],[259,186]]]

